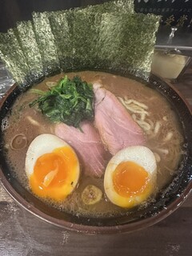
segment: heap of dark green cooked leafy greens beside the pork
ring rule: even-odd
[[[68,126],[78,127],[82,120],[94,118],[93,86],[82,82],[78,76],[62,78],[50,90],[33,90],[41,96],[30,103],[30,107],[38,104],[38,108],[53,122],[64,122]]]

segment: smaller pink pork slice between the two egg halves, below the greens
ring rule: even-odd
[[[55,134],[70,144],[86,167],[86,174],[101,177],[105,170],[106,150],[101,138],[90,122],[82,122],[80,131],[73,126],[59,123],[55,127]]]

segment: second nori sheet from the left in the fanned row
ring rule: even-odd
[[[38,49],[34,29],[31,21],[18,22],[17,28],[14,30],[18,36],[18,42],[21,45],[23,54],[26,57],[30,74],[33,76],[34,81],[38,81],[44,76],[42,66],[42,56]]]

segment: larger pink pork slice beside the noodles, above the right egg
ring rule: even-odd
[[[109,90],[94,84],[95,126],[111,154],[127,146],[144,145],[146,135],[142,128],[134,122],[126,108]]]

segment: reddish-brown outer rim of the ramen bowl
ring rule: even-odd
[[[189,110],[190,114],[192,115],[192,110],[190,108],[189,103],[186,102],[186,99],[183,97],[183,95],[172,84],[170,84],[168,81],[162,80],[162,78],[158,78],[154,74],[152,74],[152,78],[154,78],[157,82],[162,81],[166,83],[166,85],[170,86],[170,88],[174,90],[174,92],[178,94],[178,96],[182,99],[182,102],[186,105],[186,108]],[[0,99],[0,110],[2,109],[4,102],[6,102],[6,99],[10,96],[10,94],[14,92],[14,90],[17,87],[18,85],[14,83],[14,85],[10,87],[10,89],[6,92],[3,98]],[[7,180],[5,174],[3,173],[1,167],[0,167],[0,182],[2,183],[2,186],[4,187],[6,192],[10,194],[11,198],[13,198],[14,201],[17,202],[19,206],[22,206],[22,208],[30,212],[30,214],[33,214],[34,216],[42,219],[45,222],[53,224],[54,226],[58,226],[66,230],[76,231],[82,234],[130,233],[135,230],[141,230],[148,226],[152,226],[162,221],[162,219],[166,218],[167,216],[169,216],[171,213],[174,212],[174,210],[177,210],[178,207],[182,205],[182,203],[186,200],[186,198],[189,196],[190,192],[192,191],[192,179],[190,179],[190,182],[182,191],[181,196],[174,199],[174,202],[170,202],[170,204],[166,208],[163,208],[162,210],[160,210],[158,214],[154,214],[153,216],[150,216],[150,218],[142,218],[137,222],[128,222],[126,224],[123,223],[122,225],[116,225],[116,226],[88,226],[84,224],[65,221],[63,219],[54,218],[49,214],[42,212],[41,210],[39,210],[29,202],[27,202],[26,199],[22,198],[22,195],[18,194],[18,192],[14,190],[14,187],[11,186],[10,182]]]

